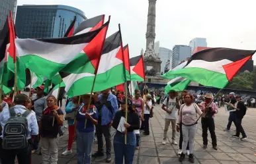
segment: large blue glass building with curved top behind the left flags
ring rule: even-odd
[[[17,7],[15,27],[19,38],[62,38],[77,17],[75,28],[87,18],[85,13],[65,5],[22,5]]]

